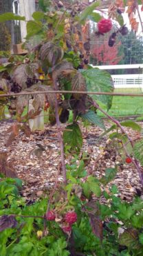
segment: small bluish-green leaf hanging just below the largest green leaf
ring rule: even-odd
[[[87,113],[80,115],[83,120],[87,120],[88,122],[91,122],[94,125],[97,125],[98,127],[105,130],[104,122],[102,119],[92,110],[87,111]]]

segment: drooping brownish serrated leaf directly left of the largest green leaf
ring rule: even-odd
[[[85,77],[79,72],[72,78],[72,91],[86,91]],[[73,93],[74,98],[77,100],[83,96],[83,94]]]

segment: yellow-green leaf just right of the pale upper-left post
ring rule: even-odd
[[[38,34],[40,31],[42,31],[43,25],[41,21],[28,21],[27,25],[27,39]]]

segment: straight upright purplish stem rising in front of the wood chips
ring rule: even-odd
[[[53,84],[54,84],[54,89],[56,90],[56,78],[53,77]],[[65,154],[64,154],[64,145],[63,145],[63,138],[62,138],[62,133],[61,133],[61,122],[60,118],[58,115],[58,100],[55,95],[55,114],[56,114],[56,126],[58,130],[58,140],[60,143],[60,151],[61,151],[61,164],[62,164],[62,171],[63,171],[63,182],[65,185],[67,184],[67,175],[66,175],[66,167],[65,167]]]

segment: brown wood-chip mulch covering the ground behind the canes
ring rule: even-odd
[[[0,152],[7,152],[8,166],[19,179],[23,180],[21,194],[27,200],[35,200],[54,187],[57,179],[59,182],[63,181],[57,129],[45,125],[45,131],[36,131],[30,137],[25,136],[21,131],[12,144],[6,147],[5,144],[10,136],[6,131],[12,122],[0,122]],[[111,126],[106,122],[105,125],[107,128]],[[65,126],[62,125],[62,127],[64,129]],[[120,197],[126,201],[131,201],[135,194],[142,194],[142,185],[133,164],[125,163],[125,156],[121,156],[107,136],[98,140],[103,133],[102,129],[95,126],[89,127],[88,131],[85,127],[81,129],[83,149],[80,158],[85,161],[87,173],[101,177],[104,176],[107,168],[118,166],[115,179],[105,188],[107,192],[111,185],[115,184],[118,186]],[[126,131],[133,140],[140,138],[137,131],[127,128]],[[42,149],[41,146],[43,146]],[[71,158],[72,156],[67,156],[66,163],[69,163]]]

